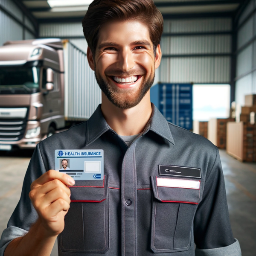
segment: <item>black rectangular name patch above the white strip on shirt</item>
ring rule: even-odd
[[[159,175],[191,177],[201,179],[201,169],[183,166],[158,165]]]

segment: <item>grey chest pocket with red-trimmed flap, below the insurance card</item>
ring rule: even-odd
[[[109,248],[108,176],[104,180],[77,180],[70,191],[70,209],[64,230],[58,236],[59,249],[105,253]]]

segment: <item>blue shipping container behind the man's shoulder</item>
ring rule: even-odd
[[[167,121],[192,129],[192,84],[156,84],[150,99]]]

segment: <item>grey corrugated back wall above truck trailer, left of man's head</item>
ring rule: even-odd
[[[87,52],[87,42],[84,39],[81,22],[40,24],[39,36],[41,38],[68,38],[76,47]]]

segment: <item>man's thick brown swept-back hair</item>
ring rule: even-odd
[[[138,20],[148,26],[155,54],[163,33],[163,16],[153,0],[94,0],[82,20],[84,37],[93,56],[99,29],[112,20]]]

